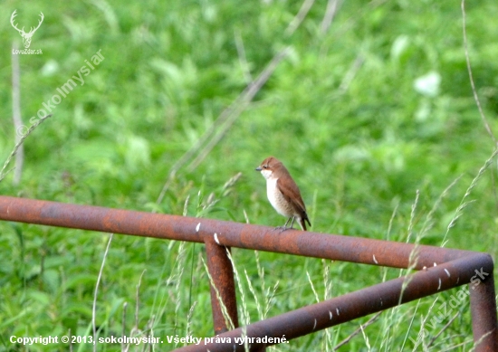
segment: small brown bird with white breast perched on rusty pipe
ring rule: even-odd
[[[297,219],[302,230],[306,231],[306,223],[310,224],[308,214],[306,214],[306,206],[302,201],[299,187],[292,179],[289,171],[283,166],[282,162],[275,157],[267,157],[263,160],[260,166],[256,168],[261,175],[266,178],[266,195],[277,213],[287,216],[287,222],[283,225],[283,231],[292,229],[294,220]],[[287,227],[292,219],[290,227]]]

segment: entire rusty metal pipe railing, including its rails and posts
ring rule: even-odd
[[[284,334],[287,339],[297,338],[463,285],[474,277],[475,271],[485,271],[489,276],[478,286],[472,287],[474,290],[470,290],[475,351],[498,351],[493,260],[485,253],[292,230],[275,233],[273,228],[259,225],[8,196],[0,196],[0,219],[206,243],[210,275],[235,328],[238,327],[235,285],[225,247],[420,270],[406,278],[380,283],[251,324],[244,328],[247,337],[282,338]],[[227,331],[213,289],[212,287],[215,333],[221,333],[220,337],[240,337],[241,328]],[[214,346],[215,350],[234,350],[231,344],[212,345],[211,348]],[[206,347],[190,346],[179,350],[200,351],[206,350]],[[261,347],[264,348],[254,344],[251,349]]]

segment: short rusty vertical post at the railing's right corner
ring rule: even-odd
[[[479,281],[469,284],[475,352],[494,352],[498,351],[498,330],[493,271],[480,274],[483,277],[479,273],[474,277]],[[489,276],[484,278],[484,274]]]

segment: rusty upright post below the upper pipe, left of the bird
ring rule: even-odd
[[[238,328],[239,326],[237,300],[235,298],[234,270],[232,262],[230,262],[226,253],[226,251],[230,251],[229,247],[216,244],[212,237],[206,237],[205,243],[207,269],[213,281],[210,284],[213,322],[215,325],[215,335],[218,335],[231,329],[225,322],[222,309],[225,309],[225,315],[232,321],[234,328]],[[213,283],[216,290],[213,287]],[[223,306],[220,304],[220,301]]]

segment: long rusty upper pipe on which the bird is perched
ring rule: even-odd
[[[0,219],[29,224],[69,227],[105,233],[123,233],[203,243],[214,237],[226,247],[281,252],[342,262],[360,262],[393,268],[424,267],[449,262],[474,252],[410,243],[393,243],[336,234],[238,224],[187,216],[150,214],[90,205],[69,205],[0,196]],[[417,255],[412,255],[417,251]],[[411,258],[417,261],[410,262]]]

